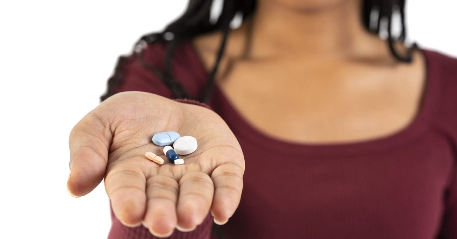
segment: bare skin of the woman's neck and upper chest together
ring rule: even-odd
[[[311,2],[260,0],[229,35],[217,76],[225,96],[256,129],[296,143],[364,141],[406,127],[425,83],[423,55],[395,60],[362,27],[358,0],[319,1],[328,6],[320,10]],[[193,42],[207,69],[219,41],[214,33]]]

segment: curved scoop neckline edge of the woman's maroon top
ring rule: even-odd
[[[207,70],[203,64],[202,58],[197,52],[197,49],[191,41],[187,42],[191,48],[191,55],[195,57],[198,66],[198,73],[201,75],[199,78],[200,83],[204,83],[207,79]],[[414,118],[409,124],[391,134],[386,136],[379,136],[367,140],[357,140],[351,142],[341,143],[301,143],[287,141],[275,138],[268,135],[256,128],[249,122],[239,110],[230,102],[229,98],[225,95],[223,90],[220,89],[218,84],[214,85],[213,96],[211,97],[210,105],[217,105],[224,109],[224,120],[230,125],[232,131],[243,136],[243,140],[249,140],[256,146],[269,151],[281,150],[287,154],[314,154],[322,156],[332,155],[347,155],[352,154],[365,154],[382,151],[386,149],[399,148],[419,136],[428,127],[428,122],[434,112],[434,102],[436,101],[437,93],[437,80],[433,80],[433,75],[436,74],[433,69],[433,61],[431,61],[430,52],[417,48],[418,51],[424,56],[424,70],[425,82],[421,93],[420,106],[418,107]],[[433,74],[432,74],[433,73]],[[218,101],[215,103],[214,101]]]

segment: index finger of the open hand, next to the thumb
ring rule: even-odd
[[[114,215],[129,227],[138,226],[146,209],[146,179],[136,165],[117,163],[109,168],[105,189]]]

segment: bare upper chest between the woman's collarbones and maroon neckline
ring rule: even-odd
[[[366,140],[406,127],[420,107],[421,70],[357,64],[237,64],[219,82],[237,111],[272,137]]]

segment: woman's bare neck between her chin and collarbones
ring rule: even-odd
[[[300,11],[260,0],[253,19],[251,56],[335,57],[379,42],[362,26],[360,0]]]

